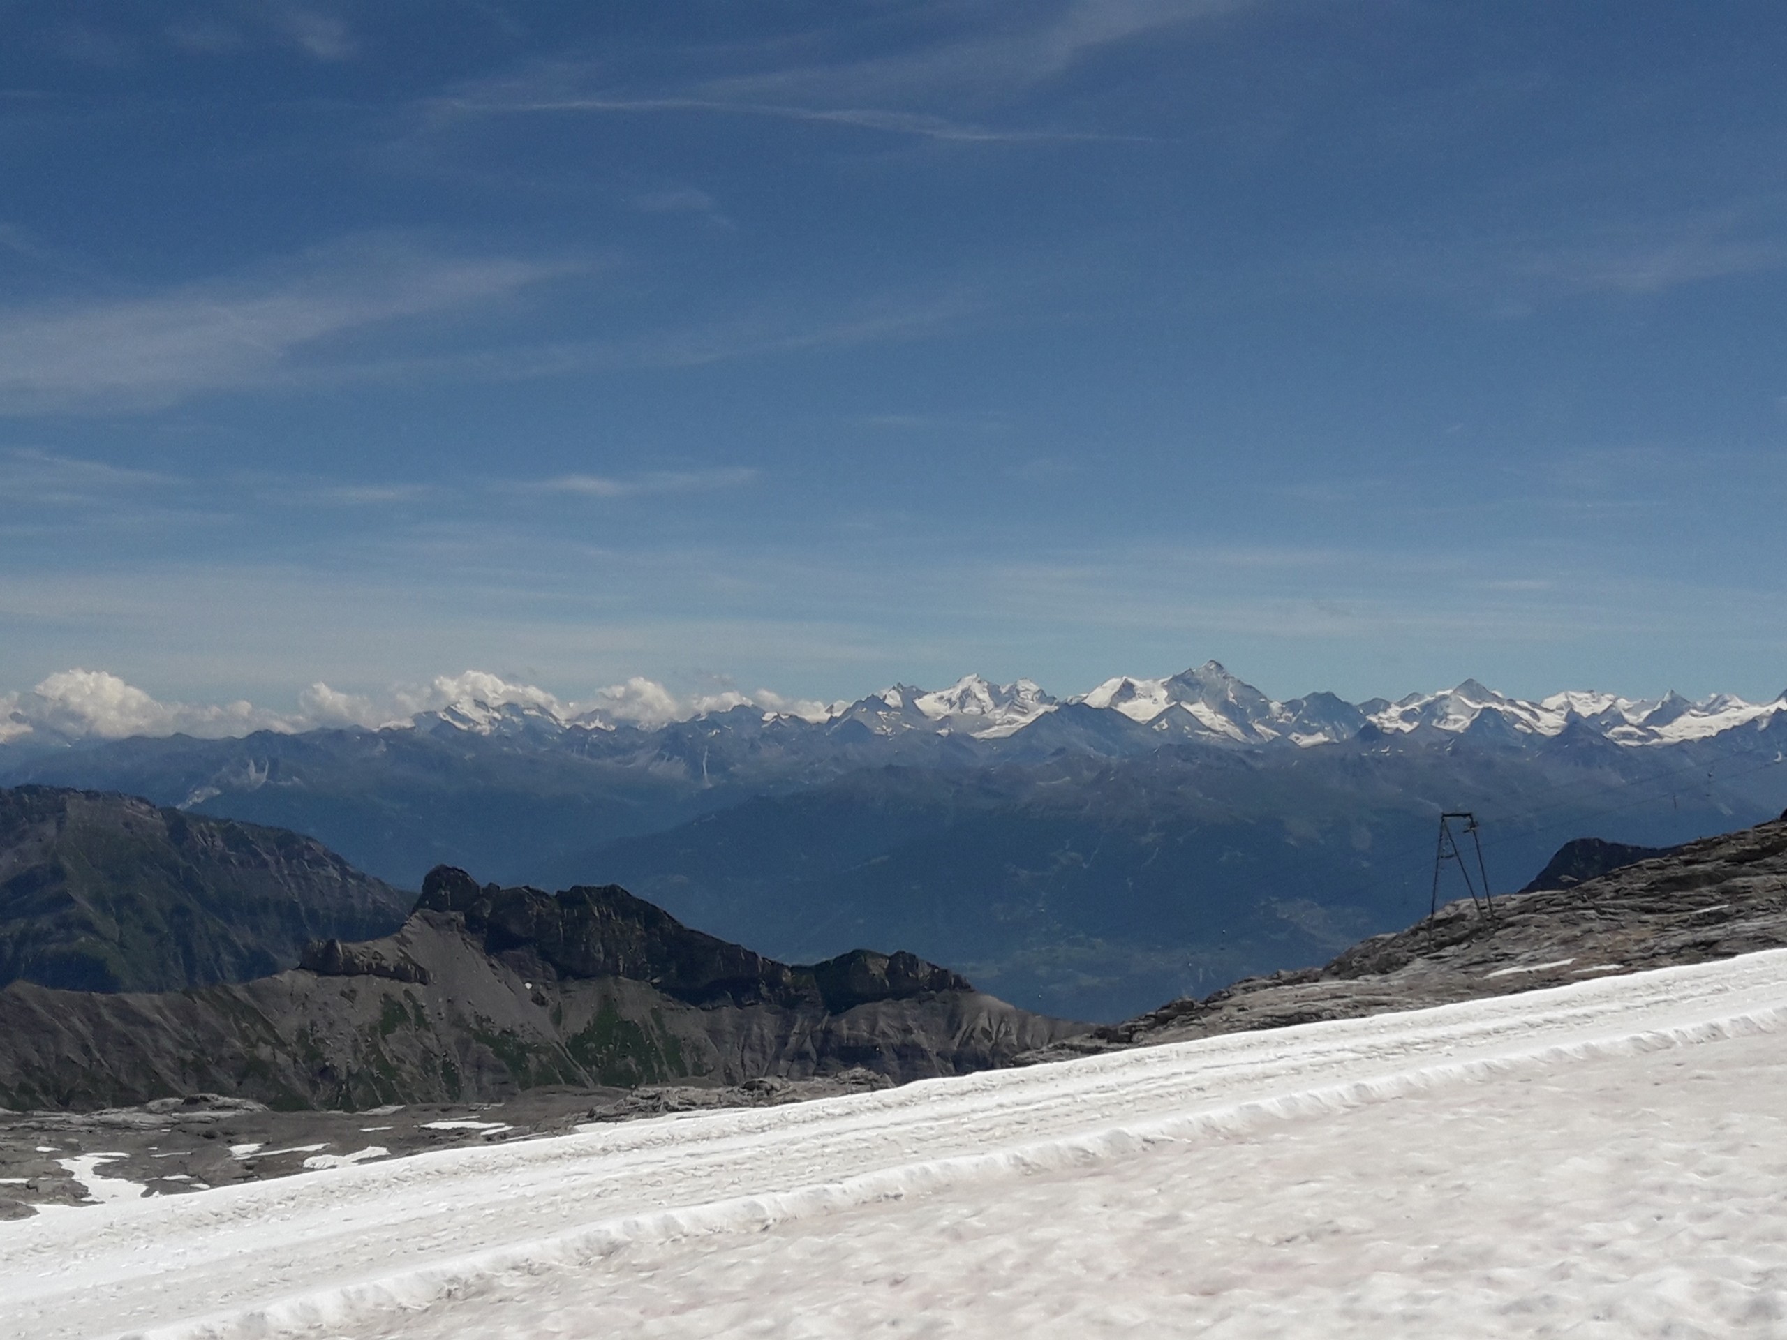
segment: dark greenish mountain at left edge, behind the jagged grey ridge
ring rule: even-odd
[[[311,838],[129,795],[0,790],[0,984],[154,992],[395,929],[409,895]]]

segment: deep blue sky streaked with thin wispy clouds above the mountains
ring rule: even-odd
[[[0,4],[0,690],[1787,686],[1774,4]]]

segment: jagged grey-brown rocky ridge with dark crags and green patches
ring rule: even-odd
[[[279,1108],[477,1102],[541,1085],[919,1079],[1083,1031],[911,954],[811,967],[690,931],[618,888],[431,872],[402,929],[304,967],[155,995],[0,992],[0,1106],[223,1093]]]

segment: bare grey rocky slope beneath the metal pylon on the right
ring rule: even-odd
[[[1172,1001],[1024,1061],[1358,1018],[1562,986],[1589,976],[1705,963],[1787,945],[1787,815],[1685,843],[1569,890],[1469,899],[1380,934],[1321,968],[1249,977]]]

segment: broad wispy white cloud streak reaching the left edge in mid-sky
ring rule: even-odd
[[[465,313],[568,268],[347,243],[154,297],[0,309],[0,413],[161,409],[293,381],[331,339]]]

